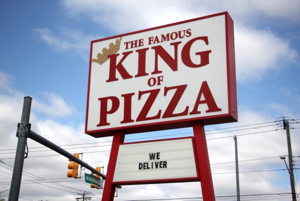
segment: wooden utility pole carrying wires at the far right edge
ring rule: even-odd
[[[291,152],[291,143],[290,143],[290,134],[289,134],[289,123],[283,119],[283,129],[286,130],[286,138],[287,138],[287,151],[288,151],[288,172],[289,172],[289,180],[290,180],[290,189],[292,201],[297,201],[296,199],[296,190],[294,183],[294,175],[293,175],[293,166],[292,166],[292,152]]]

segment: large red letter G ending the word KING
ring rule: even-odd
[[[201,36],[201,37],[196,37],[196,38],[189,40],[183,46],[182,51],[181,51],[181,59],[182,59],[182,62],[184,63],[184,65],[186,65],[187,67],[197,68],[197,67],[201,67],[201,66],[205,66],[205,65],[209,64],[209,53],[211,52],[211,50],[195,53],[195,55],[200,56],[199,64],[193,63],[192,60],[190,59],[190,47],[191,47],[192,43],[194,43],[196,40],[203,40],[205,42],[205,44],[208,45],[207,36]]]

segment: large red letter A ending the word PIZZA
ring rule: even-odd
[[[204,96],[204,100],[200,100],[202,94]],[[200,104],[207,105],[208,110],[206,110],[205,112],[221,111],[221,109],[216,106],[215,101],[212,97],[211,91],[210,91],[206,81],[202,82],[201,88],[199,90],[198,96],[197,96],[195,104],[194,104],[194,108],[189,114],[200,114],[201,112],[198,111],[198,106]]]

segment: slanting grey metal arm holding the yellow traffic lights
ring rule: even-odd
[[[87,170],[90,170],[91,172],[99,175],[101,178],[103,178],[103,180],[105,179],[105,175],[103,175],[102,173],[100,173],[96,169],[92,168],[87,163],[84,163],[80,159],[76,158],[74,155],[68,153],[64,149],[61,149],[59,146],[55,145],[54,143],[52,143],[52,142],[48,141],[47,139],[41,137],[37,133],[35,133],[33,131],[30,131],[29,132],[29,138],[34,140],[35,142],[38,142],[38,143],[46,146],[47,148],[50,148],[51,150],[57,152],[58,154],[61,154],[62,156],[65,156],[68,159],[71,159],[72,161],[76,162],[77,164],[81,165],[82,167],[86,168]]]

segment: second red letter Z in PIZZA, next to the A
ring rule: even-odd
[[[185,107],[184,111],[183,112],[180,112],[180,113],[175,113],[173,114],[180,98],[182,97],[182,94],[186,88],[187,84],[185,85],[179,85],[179,86],[173,86],[173,87],[164,87],[164,96],[166,96],[166,93],[169,91],[169,90],[172,90],[172,89],[176,89],[172,99],[170,100],[168,106],[166,107],[163,115],[162,115],[162,118],[168,118],[168,117],[178,117],[178,116],[183,116],[183,115],[187,115],[187,112],[188,112],[188,106]]]

